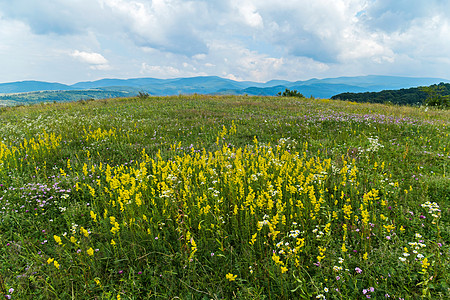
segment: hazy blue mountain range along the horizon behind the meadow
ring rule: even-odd
[[[306,97],[330,98],[333,95],[344,92],[378,92],[428,86],[440,82],[450,81],[442,78],[380,75],[314,78],[306,81],[271,80],[265,83],[235,81],[217,76],[173,79],[101,79],[78,82],[72,85],[43,81],[18,81],[0,84],[0,100],[2,100],[3,104],[6,100],[21,103],[23,101],[19,101],[19,98],[26,98],[22,93],[32,94],[33,99],[37,99],[34,102],[55,101],[55,97],[60,97],[61,95],[66,95],[67,99],[76,100],[77,97],[81,97],[79,99],[83,99],[83,97],[99,99],[111,97],[111,95],[118,97],[135,96],[139,92],[160,96],[194,93],[275,96],[278,92],[282,92],[285,89],[297,90]]]

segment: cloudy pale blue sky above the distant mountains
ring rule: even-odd
[[[0,0],[0,82],[450,79],[448,0]]]

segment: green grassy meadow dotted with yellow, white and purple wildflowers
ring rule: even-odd
[[[177,96],[0,111],[7,299],[448,299],[450,111]]]

